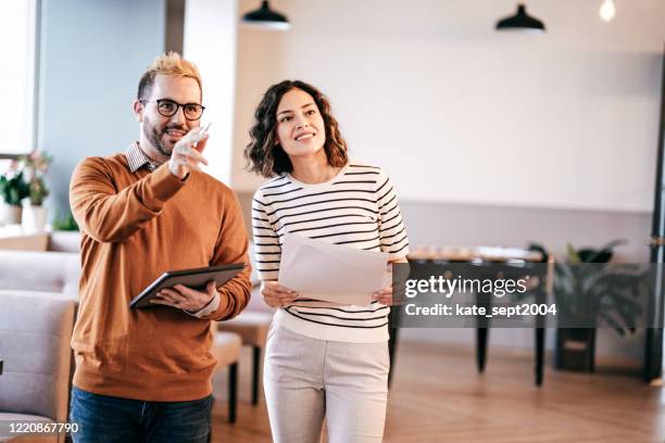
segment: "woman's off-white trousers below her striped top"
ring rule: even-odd
[[[388,343],[312,339],[271,327],[263,385],[273,441],[377,443],[388,400]]]

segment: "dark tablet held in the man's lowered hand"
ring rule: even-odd
[[[154,280],[140,294],[131,299],[129,307],[150,307],[161,306],[150,303],[156,293],[164,288],[173,288],[176,284],[183,284],[191,289],[205,289],[205,284],[210,280],[215,280],[217,287],[234,278],[244,268],[244,264],[238,263],[234,265],[211,266],[196,269],[170,270],[162,274],[160,278]]]

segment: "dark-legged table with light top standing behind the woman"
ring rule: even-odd
[[[543,257],[540,252],[536,251],[528,251],[517,248],[494,246],[416,246],[409,254],[409,261],[421,264],[473,263],[480,266],[487,265],[487,278],[497,278],[498,268],[503,269],[502,271],[511,271],[516,268],[516,265],[520,265],[520,269],[524,271],[525,269],[537,269],[537,266],[534,266],[535,264],[548,263],[547,275],[541,275],[539,277],[541,279],[547,279],[545,281],[548,282],[549,288],[547,290],[536,292],[536,303],[545,303],[547,294],[551,292],[553,263],[549,260],[549,257]],[[542,269],[540,270],[542,274]],[[476,295],[478,304],[486,306],[489,309],[492,294],[480,293]],[[476,328],[476,364],[478,371],[484,372],[487,362],[489,318],[486,316],[478,316],[477,321],[479,326]],[[391,338],[389,343],[391,347],[391,356],[394,353],[397,330],[393,330],[392,332],[396,337]],[[535,332],[536,384],[541,385],[544,369],[545,338],[544,319],[541,316],[536,317]]]

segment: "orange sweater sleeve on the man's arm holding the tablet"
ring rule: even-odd
[[[228,189],[224,195],[222,228],[211,265],[244,263],[247,266],[236,277],[217,288],[219,292],[217,308],[213,313],[199,318],[217,321],[228,320],[244,309],[249,303],[252,288],[250,282],[252,268],[247,254],[248,246],[249,240],[240,204],[234,192]]]

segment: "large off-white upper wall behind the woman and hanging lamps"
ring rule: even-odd
[[[402,200],[649,211],[665,1],[618,1],[610,24],[600,3],[531,0],[532,36],[493,30],[513,0],[275,0],[289,31],[238,34],[233,185],[261,182],[242,172],[261,94],[301,78]]]

